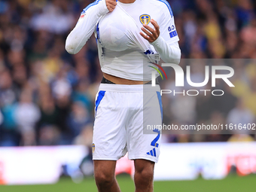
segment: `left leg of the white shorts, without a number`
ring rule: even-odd
[[[93,160],[118,160],[126,154],[127,111],[125,106],[120,105],[122,99],[120,93],[106,91],[102,100],[96,102]]]

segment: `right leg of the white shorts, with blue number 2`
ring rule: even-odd
[[[160,154],[161,130],[158,128],[162,125],[162,102],[157,92],[143,97],[143,107],[134,114],[127,128],[129,158],[157,163]]]

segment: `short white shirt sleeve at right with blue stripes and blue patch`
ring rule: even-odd
[[[174,16],[172,13],[172,8],[166,1],[161,1],[163,3],[163,9],[161,11],[162,18],[160,25],[160,36],[168,43],[172,44],[179,41],[178,32],[174,22]]]

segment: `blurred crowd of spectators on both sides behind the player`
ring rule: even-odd
[[[91,145],[102,79],[95,38],[72,56],[66,37],[90,0],[0,0],[0,146]],[[256,2],[172,0],[182,58],[235,59],[224,96],[163,96],[163,122],[255,123]],[[245,62],[241,59],[250,59]],[[186,62],[181,61],[185,69]],[[204,66],[191,66],[203,82]],[[226,62],[221,65],[227,65]],[[175,77],[169,72],[169,77]],[[175,78],[161,84],[175,90]],[[212,87],[208,87],[210,90]],[[253,141],[253,135],[166,135],[166,142]]]

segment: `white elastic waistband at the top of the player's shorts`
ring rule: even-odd
[[[100,84],[99,90],[112,92],[160,92],[160,86],[158,84],[155,87],[151,84]]]

